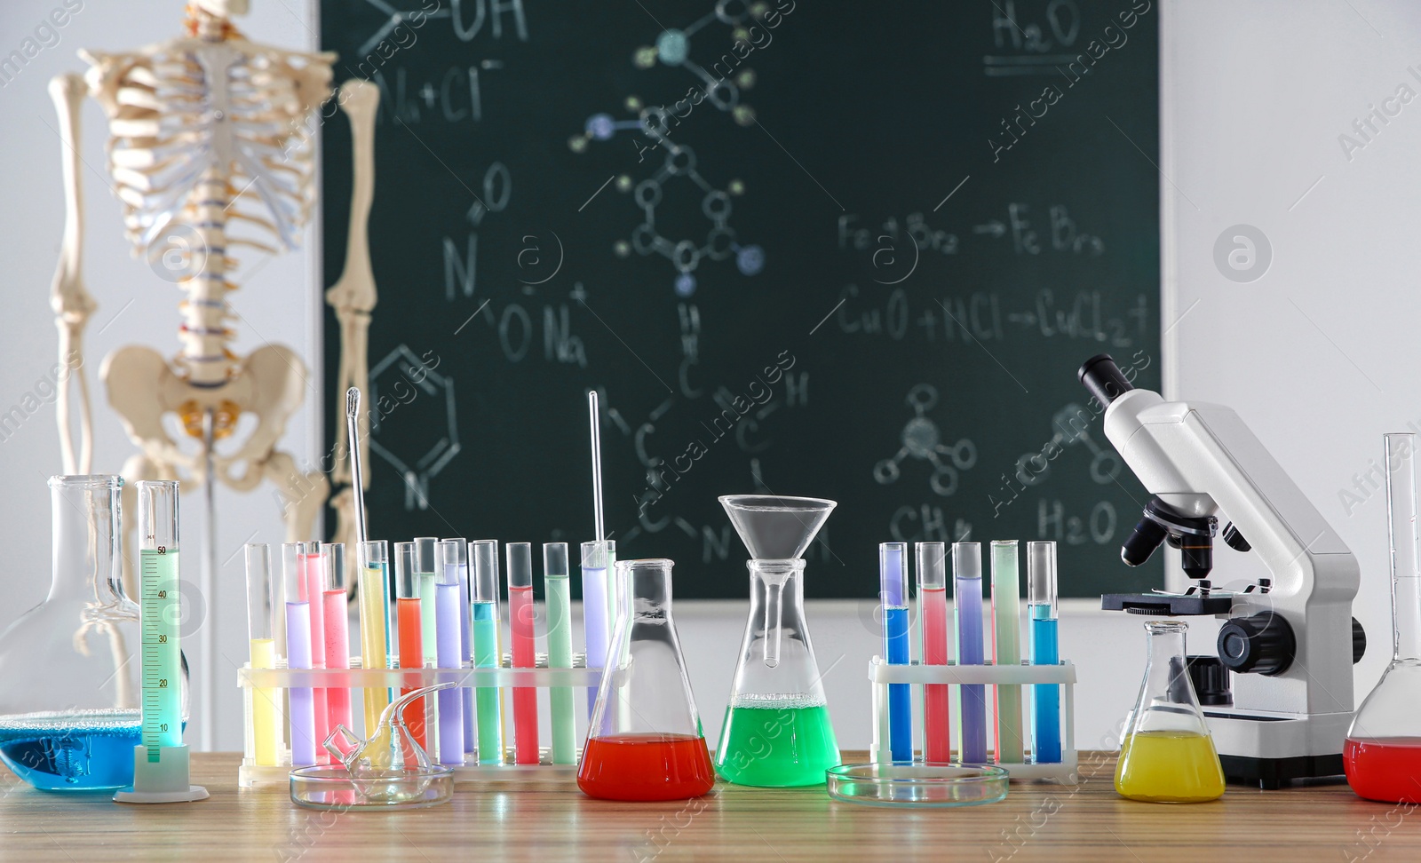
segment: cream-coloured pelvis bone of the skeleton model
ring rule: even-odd
[[[165,413],[176,414],[183,432],[199,439],[209,412],[215,439],[229,437],[242,414],[252,413],[256,429],[237,453],[219,457],[219,463],[261,461],[301,406],[306,363],[290,348],[266,345],[244,358],[220,386],[193,386],[158,351],[128,345],[104,359],[99,378],[128,437],[149,456],[169,461],[175,454],[162,424]]]

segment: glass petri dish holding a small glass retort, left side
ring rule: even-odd
[[[453,799],[453,768],[389,771],[355,779],[340,764],[303,766],[291,771],[291,802],[307,809],[361,812],[422,809]]]

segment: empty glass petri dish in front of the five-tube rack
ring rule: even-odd
[[[828,796],[847,803],[942,809],[1006,798],[1009,774],[988,764],[882,761],[828,768]]]

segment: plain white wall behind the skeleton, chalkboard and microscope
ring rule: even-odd
[[[72,1],[72,0],[71,0]],[[0,54],[18,47],[60,0],[7,0],[0,6]],[[256,0],[242,21],[253,38],[303,47],[310,30],[297,14],[307,3]],[[17,403],[53,363],[55,336],[48,284],[63,224],[58,138],[44,87],[61,71],[81,68],[80,45],[131,48],[178,33],[178,0],[85,0],[61,30],[61,43],[36,57],[0,88],[0,407]],[[296,10],[293,13],[291,10]],[[1165,219],[1165,280],[1172,294],[1164,312],[1171,395],[1235,406],[1277,460],[1295,476],[1361,559],[1363,590],[1356,615],[1373,647],[1358,667],[1358,697],[1384,667],[1390,626],[1384,504],[1373,495],[1350,512],[1339,490],[1368,470],[1380,434],[1408,420],[1421,426],[1421,399],[1407,361],[1421,297],[1407,294],[1404,274],[1421,271],[1421,247],[1410,236],[1411,197],[1421,166],[1411,158],[1421,142],[1421,102],[1407,106],[1349,163],[1337,143],[1368,104],[1411,82],[1405,71],[1421,64],[1421,9],[1400,0],[1215,1],[1167,0],[1164,21],[1164,153],[1161,179]],[[1370,21],[1370,26],[1368,26]],[[1383,35],[1373,31],[1376,27]],[[1412,116],[1412,114],[1415,116]],[[101,308],[90,328],[88,372],[125,343],[176,351],[176,291],[128,258],[119,210],[101,179],[101,114],[85,106],[84,183],[88,192],[88,282]],[[1322,182],[1307,193],[1309,186]],[[1175,190],[1178,187],[1178,192]],[[1185,200],[1185,197],[1188,200]],[[1191,203],[1192,202],[1192,203]],[[1258,226],[1273,247],[1268,274],[1252,284],[1225,280],[1214,265],[1214,243],[1236,223]],[[263,341],[293,346],[308,363],[314,341],[317,285],[308,277],[313,254],[266,264],[233,295],[246,321],[233,345],[246,353]],[[260,258],[247,255],[244,273]],[[125,308],[125,304],[132,301]],[[115,318],[115,314],[119,314]],[[1312,321],[1309,321],[1309,318]],[[117,471],[131,447],[117,417],[97,396],[95,468]],[[315,451],[313,403],[297,414],[283,446],[298,458]],[[48,508],[44,477],[58,473],[53,407],[30,417],[0,444],[3,538],[13,549],[0,586],[7,590],[0,623],[43,598],[48,582]],[[244,656],[240,556],[243,542],[280,542],[269,490],[249,495],[223,491],[217,538],[223,585],[216,603],[222,657],[216,677],[222,697],[215,745],[240,745],[240,713],[230,688],[232,660]],[[199,510],[185,510],[185,544],[202,548]],[[230,559],[229,559],[230,556]],[[1221,552],[1218,581],[1241,578],[1239,555]],[[196,579],[196,559],[185,558]],[[1130,707],[1142,669],[1140,620],[1091,610],[1088,602],[1063,608],[1063,656],[1079,666],[1077,738],[1104,745]],[[811,602],[830,705],[845,748],[868,745],[865,663],[878,650],[872,603]],[[719,731],[739,643],[745,606],[679,603],[678,619],[692,687],[706,732]],[[1192,644],[1212,643],[1214,622],[1195,622]],[[205,669],[196,644],[185,644],[195,669]],[[196,742],[196,741],[193,741]]]

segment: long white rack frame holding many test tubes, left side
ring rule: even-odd
[[[286,660],[279,659],[277,664],[284,666]],[[514,669],[512,667],[510,657],[507,653],[503,654],[503,667],[500,669],[361,669],[360,657],[351,659],[351,669],[253,669],[250,664],[244,664],[237,669],[237,686],[242,688],[242,700],[244,705],[246,715],[246,732],[243,735],[243,758],[242,766],[237,768],[237,786],[239,788],[254,788],[260,791],[287,791],[291,774],[291,752],[290,748],[280,751],[277,765],[259,765],[256,764],[256,744],[252,737],[253,722],[252,722],[252,698],[257,690],[288,690],[288,688],[350,688],[350,690],[364,690],[364,688],[419,688],[426,686],[433,686],[436,683],[455,683],[460,688],[463,687],[499,687],[506,691],[504,698],[510,697],[514,687],[534,687],[540,690],[547,690],[551,687],[573,687],[577,690],[595,690],[597,684],[601,681],[601,669],[588,669],[585,661],[585,654],[573,654],[571,669],[550,669],[547,666],[547,654],[539,653],[537,663],[533,669]],[[360,693],[352,693],[351,696],[355,704],[360,704]],[[541,703],[547,703],[547,694],[540,697]],[[279,724],[284,725],[284,711],[279,710],[280,714]],[[357,715],[360,710],[357,708]],[[431,711],[432,714],[432,711]],[[429,725],[431,734],[433,734],[433,724]],[[512,728],[510,728],[512,730]],[[324,752],[321,747],[323,741],[317,741],[315,747],[318,751]],[[581,757],[581,747],[577,748],[577,758],[574,764],[553,764],[553,751],[549,747],[541,747],[540,762],[533,764],[513,764],[513,738],[509,735],[504,738],[504,752],[503,764],[479,764],[475,752],[465,754],[465,764],[462,766],[453,768],[455,782],[473,782],[480,779],[499,779],[499,781],[544,781],[544,779],[571,779],[577,775],[577,758]],[[431,747],[433,748],[433,747]],[[433,752],[431,752],[433,757]],[[300,766],[300,765],[296,765]]]

